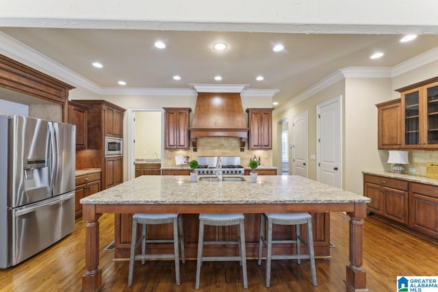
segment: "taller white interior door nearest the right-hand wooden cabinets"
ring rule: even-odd
[[[342,188],[341,98],[337,96],[317,106],[317,179],[339,188]]]

